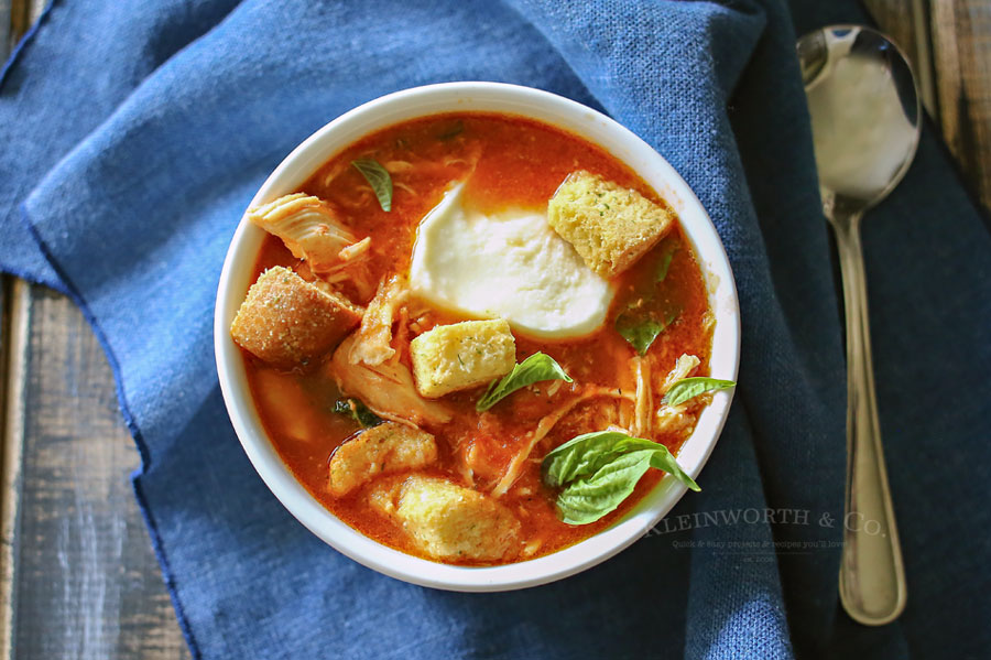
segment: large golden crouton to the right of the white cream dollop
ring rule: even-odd
[[[673,220],[667,208],[588,172],[569,174],[547,203],[551,227],[603,278],[630,268]]]

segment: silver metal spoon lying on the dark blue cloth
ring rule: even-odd
[[[847,317],[847,490],[839,593],[854,620],[905,608],[871,367],[860,220],[899,184],[918,145],[922,108],[905,56],[883,34],[831,25],[798,40],[823,210],[836,232]]]

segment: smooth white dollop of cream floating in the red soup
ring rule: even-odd
[[[442,309],[502,317],[514,329],[545,338],[587,335],[602,325],[614,294],[543,210],[483,214],[451,188],[421,221],[410,285]]]

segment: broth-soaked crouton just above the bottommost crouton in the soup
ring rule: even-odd
[[[382,422],[341,444],[330,456],[327,489],[344,497],[377,477],[437,462],[437,443],[425,431]]]

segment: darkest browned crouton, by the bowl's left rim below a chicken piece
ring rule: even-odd
[[[333,349],[359,321],[361,307],[276,266],[248,290],[230,335],[266,363],[292,366]]]

